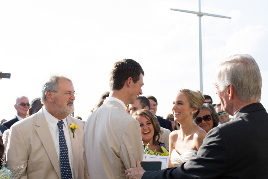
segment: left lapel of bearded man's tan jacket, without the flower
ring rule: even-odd
[[[56,170],[59,179],[61,178],[61,172],[60,172],[60,164],[58,161],[58,156],[56,152],[56,148],[54,146],[54,142],[49,130],[48,123],[46,121],[45,115],[43,113],[43,110],[40,110],[38,112],[37,120],[35,123],[36,126],[39,126],[35,131],[37,132],[40,141],[43,143],[43,146],[46,150],[47,155],[49,156],[49,159]]]

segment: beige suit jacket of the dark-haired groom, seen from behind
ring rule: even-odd
[[[105,100],[88,118],[83,158],[90,179],[125,179],[144,154],[139,122],[117,101]]]

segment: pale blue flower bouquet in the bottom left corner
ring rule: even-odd
[[[1,179],[11,179],[11,178],[17,177],[19,175],[22,175],[21,174],[22,172],[20,171],[20,169],[23,169],[24,165],[21,166],[21,168],[18,167],[18,170],[16,170],[15,168],[12,167],[12,172],[10,172],[10,170],[5,167],[6,166],[5,158],[6,158],[6,154],[1,159],[2,167],[0,170],[0,178]]]

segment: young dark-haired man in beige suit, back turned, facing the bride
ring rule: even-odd
[[[90,179],[126,178],[144,154],[139,122],[126,112],[142,94],[144,71],[134,60],[116,62],[110,73],[110,95],[85,124],[82,144]]]

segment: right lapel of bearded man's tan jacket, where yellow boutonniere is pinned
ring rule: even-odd
[[[67,116],[66,118],[67,124],[73,124],[74,122]],[[74,123],[75,124],[75,123]],[[77,136],[77,132],[71,132],[71,129],[69,128],[70,138],[71,138],[71,144],[72,144],[72,151],[73,151],[73,161],[74,161],[74,178],[77,179],[78,177],[78,166],[79,166],[79,139]]]

